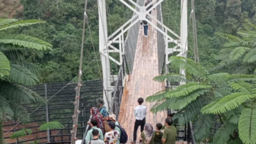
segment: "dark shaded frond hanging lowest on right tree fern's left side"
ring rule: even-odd
[[[194,130],[194,135],[197,141],[209,136],[212,123],[215,122],[213,114],[200,114],[197,117],[197,122]]]

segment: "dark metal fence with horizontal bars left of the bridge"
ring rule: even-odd
[[[54,83],[54,84],[43,84],[30,87],[30,89],[40,94],[43,98],[49,101],[46,106],[39,107],[36,105],[27,105],[27,113],[34,113],[30,115],[30,123],[19,124],[18,122],[5,123],[4,133],[10,130],[11,127],[15,126],[13,130],[10,130],[5,135],[5,141],[9,144],[24,143],[24,142],[35,142],[37,143],[69,143],[71,139],[70,130],[72,130],[72,115],[74,114],[75,99],[75,87],[76,83]],[[81,113],[78,118],[78,139],[82,139],[85,126],[90,117],[91,107],[96,106],[95,100],[103,97],[103,88],[101,80],[95,80],[90,82],[82,82],[81,101],[79,110]],[[53,96],[54,95],[54,96]],[[38,127],[46,122],[59,121],[64,125],[64,129],[61,130],[49,130],[39,131]],[[19,139],[9,139],[11,133],[14,133],[22,129],[30,129],[33,133],[29,136],[24,136]]]

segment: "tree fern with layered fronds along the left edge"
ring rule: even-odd
[[[40,95],[23,85],[36,85],[37,66],[26,62],[26,55],[41,56],[51,50],[50,43],[24,34],[15,34],[14,28],[26,27],[43,21],[0,19],[0,129],[5,120],[27,122],[29,114],[24,104],[45,104]],[[3,131],[0,131],[3,143]]]

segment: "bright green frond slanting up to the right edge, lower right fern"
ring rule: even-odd
[[[255,98],[255,96],[242,92],[229,94],[226,97],[220,99],[216,104],[204,112],[205,114],[222,114],[227,110],[235,109],[250,98]]]

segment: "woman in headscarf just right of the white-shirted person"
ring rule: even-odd
[[[141,133],[141,141],[142,144],[149,144],[152,143],[152,136],[153,136],[153,126],[149,123],[146,123],[144,126],[144,131]]]

